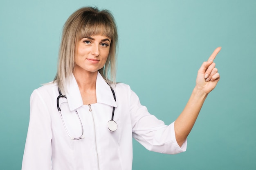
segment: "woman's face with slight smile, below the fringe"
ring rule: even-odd
[[[76,44],[75,72],[97,72],[108,58],[111,39],[104,35],[84,37]]]

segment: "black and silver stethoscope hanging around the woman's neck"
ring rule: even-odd
[[[113,97],[114,97],[114,99],[115,99],[115,101],[116,101],[115,92],[114,92],[114,90],[112,89],[111,86],[109,86],[109,87],[110,87],[110,89],[111,89],[111,91],[112,91],[112,94],[113,94]],[[68,132],[67,127],[66,127],[66,125],[65,125],[65,122],[64,122],[64,120],[63,120],[63,117],[62,117],[62,114],[61,114],[61,108],[60,108],[60,105],[59,105],[59,99],[62,98],[62,97],[67,99],[67,96],[61,94],[61,91],[60,91],[59,88],[58,88],[58,92],[59,92],[59,96],[57,97],[57,108],[58,108],[58,112],[60,113],[61,120],[62,120],[62,123],[63,123],[63,125],[64,125],[64,128],[65,128],[65,130],[66,130],[66,132],[67,132],[67,135],[70,137],[71,140],[79,140],[79,139],[85,138],[85,137],[83,136],[83,124],[82,124],[81,119],[80,119],[80,117],[79,117],[79,114],[78,114],[78,112],[77,112],[76,110],[75,110],[75,112],[76,112],[76,116],[78,117],[78,119],[79,119],[79,121],[80,121],[80,124],[81,124],[82,134],[81,134],[79,137],[72,137],[72,136],[70,135],[70,133]],[[114,131],[117,130],[117,122],[114,121],[114,113],[115,113],[115,107],[113,106],[112,117],[111,117],[111,120],[108,121],[108,129],[109,129],[110,131],[112,131],[112,132],[114,132]]]

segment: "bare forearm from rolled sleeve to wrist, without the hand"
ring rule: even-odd
[[[193,128],[206,97],[207,93],[195,87],[184,110],[175,120],[175,136],[180,146],[182,146]]]

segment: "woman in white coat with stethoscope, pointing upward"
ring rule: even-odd
[[[131,170],[132,137],[159,153],[186,150],[202,104],[220,79],[213,63],[220,48],[202,64],[189,102],[167,126],[128,85],[115,84],[116,46],[109,11],[85,7],[68,18],[55,80],[31,94],[22,170]]]

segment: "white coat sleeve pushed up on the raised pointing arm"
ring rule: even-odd
[[[138,96],[131,90],[130,113],[132,119],[132,136],[148,150],[177,154],[186,151],[187,140],[182,147],[177,144],[174,123],[165,125],[162,120],[148,113],[139,102]]]

